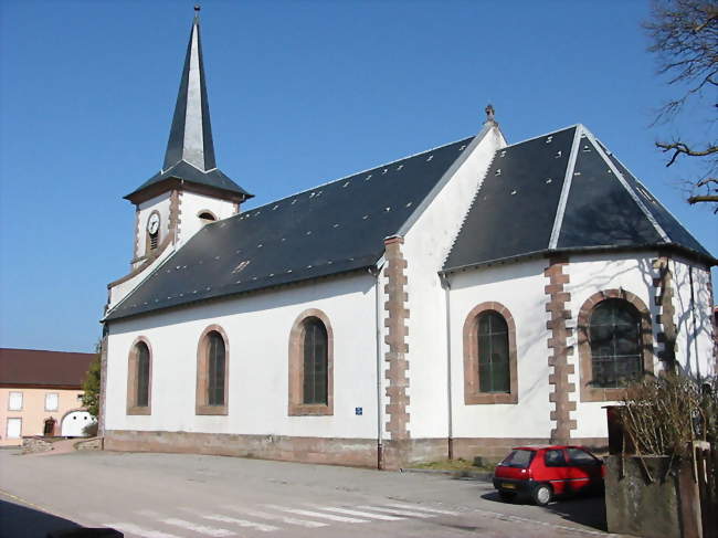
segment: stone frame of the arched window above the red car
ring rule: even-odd
[[[478,369],[478,318],[486,312],[495,312],[508,328],[508,392],[482,392]],[[466,316],[463,330],[464,346],[464,403],[466,405],[518,403],[518,358],[516,352],[516,324],[508,308],[495,300],[476,305]]]

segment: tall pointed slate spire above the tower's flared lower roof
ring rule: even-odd
[[[200,7],[194,6],[194,20],[187,45],[184,68],[175,105],[172,128],[167,143],[162,171],[181,160],[202,171],[217,168],[204,82],[199,12]]]

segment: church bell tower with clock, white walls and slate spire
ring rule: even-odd
[[[194,11],[165,162],[125,197],[136,213],[133,272],[180,246],[208,223],[237,213],[240,204],[252,198],[217,167],[199,6]]]

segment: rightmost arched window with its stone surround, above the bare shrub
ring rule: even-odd
[[[653,373],[651,313],[631,292],[591,295],[579,310],[577,329],[582,402],[620,400],[627,381]]]

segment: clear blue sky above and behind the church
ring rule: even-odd
[[[0,2],[0,346],[89,351],[160,167],[191,1]],[[647,2],[204,1],[218,163],[247,207],[478,131],[582,123],[718,254],[651,127]],[[706,108],[707,109],[707,108]],[[682,127],[705,139],[705,109]],[[707,119],[707,118],[706,118]],[[714,271],[714,279],[718,274]]]

